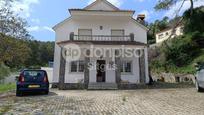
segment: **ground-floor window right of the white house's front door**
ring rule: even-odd
[[[131,73],[132,72],[132,62],[131,61],[122,61],[121,72],[122,73]]]

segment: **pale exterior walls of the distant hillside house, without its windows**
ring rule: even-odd
[[[180,35],[183,35],[183,31],[182,31],[182,28],[183,26],[179,26],[176,28],[176,32],[175,32],[175,35],[176,36],[180,36]],[[166,33],[168,33],[168,35],[166,35]],[[159,35],[163,34],[163,37],[160,38]],[[161,43],[163,42],[164,40],[167,40],[169,38],[169,36],[172,34],[172,29],[169,29],[167,31],[163,31],[161,33],[158,33],[156,34],[156,43]],[[173,38],[174,36],[172,36]]]

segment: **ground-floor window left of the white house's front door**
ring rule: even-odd
[[[71,72],[84,72],[84,61],[71,62]]]

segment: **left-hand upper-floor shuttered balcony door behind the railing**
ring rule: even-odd
[[[79,40],[92,40],[92,29],[79,29]]]

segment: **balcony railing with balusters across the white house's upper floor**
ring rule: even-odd
[[[113,35],[74,35],[70,34],[72,41],[134,41],[134,34],[127,36],[113,36]]]

